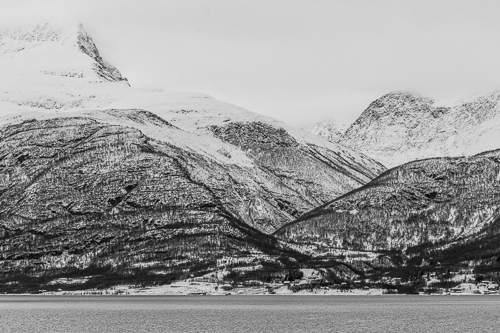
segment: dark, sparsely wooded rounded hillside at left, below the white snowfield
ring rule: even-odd
[[[179,131],[145,111],[124,116]],[[224,255],[287,252],[237,215],[237,167],[90,117],[31,120],[0,135],[4,282],[96,272],[140,281],[146,271],[168,281]]]

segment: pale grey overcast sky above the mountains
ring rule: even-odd
[[[500,89],[500,1],[0,0],[0,20],[76,18],[140,88],[195,91],[304,126],[381,95]]]

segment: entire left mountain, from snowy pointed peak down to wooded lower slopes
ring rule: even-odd
[[[269,234],[385,170],[207,95],[134,89],[75,22],[0,33],[0,114],[0,282],[18,290],[158,282],[228,255],[286,270],[303,254]]]

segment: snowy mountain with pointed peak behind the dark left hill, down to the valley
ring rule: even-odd
[[[151,125],[151,117],[138,109],[169,125]],[[207,165],[227,168],[227,174],[217,181],[208,176],[210,170],[198,170],[207,175],[200,182],[210,188],[236,184],[231,186],[239,201],[227,207],[237,207],[242,220],[266,231],[385,169],[352,149],[207,95],[134,89],[99,56],[77,22],[0,33],[0,115],[6,126],[33,119],[92,119],[135,128],[152,140],[202,156]],[[248,188],[238,189],[245,179]]]

